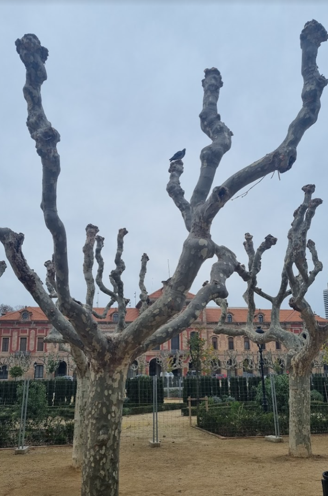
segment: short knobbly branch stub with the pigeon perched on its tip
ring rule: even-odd
[[[170,180],[166,186],[166,191],[173,199],[176,206],[179,208],[181,215],[184,218],[185,225],[188,231],[192,225],[192,213],[189,202],[185,198],[185,191],[180,185],[180,176],[184,172],[184,164],[182,160],[175,160],[170,163],[169,173]]]

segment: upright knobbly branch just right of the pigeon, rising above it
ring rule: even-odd
[[[215,67],[205,69],[204,72],[205,77],[201,82],[204,97],[203,108],[199,114],[200,127],[212,143],[200,152],[200,175],[190,202],[192,209],[206,200],[216,169],[223,155],[230,150],[232,136],[232,132],[217,113],[217,101],[220,88],[223,86],[221,74]]]

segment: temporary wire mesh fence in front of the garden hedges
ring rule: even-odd
[[[267,409],[262,408],[259,377],[200,376],[178,378],[140,376],[127,380],[122,440],[151,439],[154,401],[160,438],[196,435],[190,425],[225,437],[276,432],[270,379],[265,379]],[[154,398],[154,380],[157,381]],[[177,385],[176,385],[177,384]],[[280,434],[288,434],[288,375],[275,375]],[[311,432],[328,434],[327,376],[311,378]],[[26,407],[25,444],[70,444],[73,439],[76,381],[32,380]],[[191,401],[189,402],[189,398]],[[206,398],[206,400],[205,400]],[[0,381],[0,448],[18,445],[23,381]]]

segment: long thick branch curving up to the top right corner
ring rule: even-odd
[[[291,169],[296,160],[297,146],[305,131],[317,122],[321,107],[320,98],[327,85],[326,77],[318,71],[317,55],[321,43],[327,41],[328,34],[322,24],[316,20],[312,20],[305,24],[300,39],[302,50],[301,70],[303,76],[302,109],[289,125],[287,135],[278,148],[257,162],[233,174],[223,183],[221,187],[225,187],[227,190],[223,204],[240,191],[240,189],[263,176],[271,174],[274,171],[282,174]],[[223,206],[222,200],[217,197],[214,190],[208,199],[208,203],[212,217]]]

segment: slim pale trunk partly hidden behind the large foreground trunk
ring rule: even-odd
[[[72,466],[82,468],[83,451],[85,448],[85,415],[89,397],[90,372],[77,377],[75,410],[74,410],[74,436]]]

